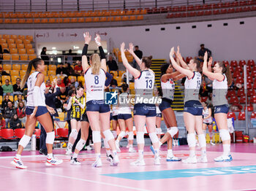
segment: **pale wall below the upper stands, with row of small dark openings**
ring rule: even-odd
[[[170,47],[180,45],[184,57],[195,56],[204,43],[214,55],[214,60],[248,60],[255,59],[255,31],[256,17],[233,20],[207,21],[200,23],[168,24],[159,26],[133,26],[120,28],[79,28],[61,30],[0,30],[0,34],[42,34],[44,37],[36,38],[36,42],[78,42],[83,41],[83,31],[91,34],[107,33],[102,39],[113,39],[116,47],[121,42],[133,42],[139,45],[144,55],[153,55],[154,58],[168,59]],[[244,25],[240,25],[244,21]],[[228,26],[223,26],[228,23]],[[207,25],[212,27],[208,28]],[[197,28],[192,28],[192,26]],[[176,26],[181,29],[176,30]],[[165,31],[160,28],[165,27]],[[145,31],[149,28],[150,31]],[[59,34],[64,33],[63,36]],[[78,36],[70,36],[70,34]]]

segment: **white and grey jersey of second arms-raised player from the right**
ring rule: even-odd
[[[198,94],[200,90],[201,80],[202,77],[198,71],[194,71],[194,75],[192,78],[186,78],[184,102],[191,100],[199,101]]]

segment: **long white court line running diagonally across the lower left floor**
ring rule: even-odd
[[[7,167],[7,166],[4,166],[4,165],[0,165],[0,168],[13,169],[11,167]],[[57,176],[57,177],[64,178],[64,179],[74,179],[74,180],[80,180],[80,181],[83,181],[83,182],[91,182],[91,183],[104,184],[104,185],[113,186],[113,187],[127,188],[127,189],[130,189],[130,190],[148,191],[146,189],[140,189],[140,188],[137,188],[137,187],[127,187],[127,186],[121,186],[121,185],[118,185],[118,184],[111,184],[111,183],[107,183],[107,182],[98,182],[98,181],[94,181],[94,180],[80,179],[80,178],[75,178],[75,177],[72,177],[72,176],[63,176],[63,175],[50,174],[50,173],[44,173],[44,172],[39,172],[39,171],[31,171],[31,170],[28,170],[28,169],[26,169],[26,170],[21,170],[20,169],[20,170],[17,170],[17,171],[27,171],[27,172],[36,173],[36,174]]]

